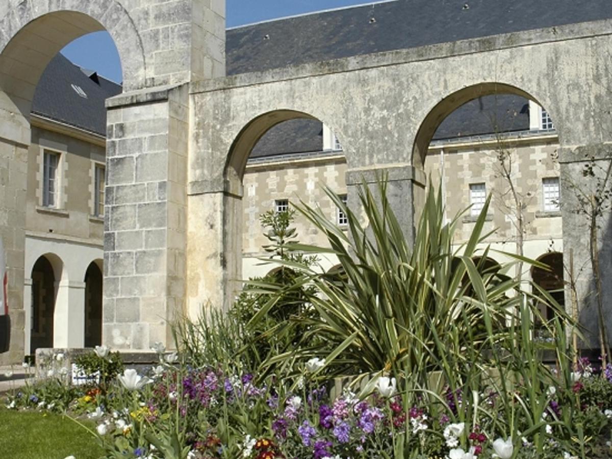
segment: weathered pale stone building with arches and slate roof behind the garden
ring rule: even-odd
[[[61,220],[61,212],[51,212],[57,226],[46,228],[43,217],[50,212],[37,208],[47,207],[45,195],[35,194],[41,177],[44,182],[44,151],[59,151],[62,140],[37,144],[32,100],[48,62],[75,37],[106,29],[124,70],[122,93],[106,100],[102,340],[119,349],[147,349],[154,341],[170,340],[168,321],[177,313],[196,316],[207,301],[230,304],[238,280],[250,274],[248,258],[258,250],[260,230],[252,222],[259,209],[290,200],[302,185],[310,190],[315,178],[346,192],[349,206],[357,206],[362,177],[371,181],[386,172],[390,201],[411,238],[429,177],[442,178],[449,216],[470,201],[477,206],[493,189],[503,193],[493,159],[506,130],[512,135],[504,136],[505,145],[517,153],[520,192],[529,198],[526,255],[564,253],[567,259],[572,252],[587,259],[583,222],[571,210],[575,203],[565,192],[564,177],[578,176],[586,156],[600,162],[608,157],[612,10],[606,0],[563,6],[556,0],[494,7],[485,0],[396,0],[225,31],[222,0],[2,3],[0,234],[6,241],[13,319],[12,351],[2,358],[24,353],[28,275],[45,255],[29,247],[42,241],[42,233],[45,244],[56,243],[48,235],[53,229],[91,247],[79,260],[85,271],[99,259],[94,250],[99,242],[92,241],[99,241],[100,222],[89,218],[95,217],[89,203],[95,194],[83,192],[88,204],[75,209],[74,228]],[[465,103],[487,105],[502,94],[520,105],[512,116],[520,127],[493,123],[491,130],[489,120],[485,132],[469,132],[450,123],[452,135],[442,135],[444,120]],[[320,147],[299,151],[284,165],[279,157],[264,159],[265,152],[249,162],[272,129],[302,120],[319,123]],[[94,147],[88,148],[75,153],[81,166],[87,159],[92,168],[81,191],[90,184],[95,188],[100,159]],[[36,171],[38,178],[32,176]],[[70,176],[70,168],[61,171]],[[452,187],[460,192],[450,193]],[[271,190],[267,198],[261,197],[264,188]],[[564,204],[561,217],[556,195]],[[308,200],[321,201],[316,194]],[[327,212],[336,215],[330,206]],[[496,208],[487,224],[501,228],[494,243],[512,252],[509,220]],[[470,216],[460,223],[465,236]],[[35,225],[31,236],[29,225]],[[317,236],[306,229],[300,233]],[[243,247],[249,255],[244,269]],[[605,246],[600,254],[608,266],[612,257]],[[45,256],[58,294],[81,295],[83,269],[70,274],[72,265],[66,264],[59,274],[50,258]],[[585,269],[577,285],[585,305],[592,302],[591,286]],[[606,296],[612,294],[612,287],[604,287]],[[75,310],[68,304],[55,308],[54,320],[67,310],[67,318],[83,323],[78,302],[72,303]],[[70,320],[62,319],[62,326],[69,327]],[[590,339],[593,308],[584,308],[581,321]],[[80,345],[86,340],[81,335],[62,339]]]

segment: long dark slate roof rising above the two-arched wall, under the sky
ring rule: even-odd
[[[397,0],[229,29],[228,75],[612,18],[610,0]]]

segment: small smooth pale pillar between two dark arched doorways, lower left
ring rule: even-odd
[[[82,348],[85,345],[85,283],[56,282],[53,313],[53,347]]]

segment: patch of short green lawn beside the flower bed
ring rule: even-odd
[[[0,408],[0,457],[97,459],[103,454],[88,431],[61,414]]]

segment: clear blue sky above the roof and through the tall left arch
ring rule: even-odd
[[[365,0],[226,0],[226,24],[241,26],[259,21],[367,3]],[[113,40],[94,32],[69,43],[62,51],[70,61],[121,82],[121,64]]]

